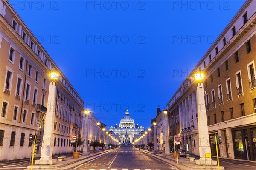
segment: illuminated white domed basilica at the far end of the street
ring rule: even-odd
[[[134,119],[129,114],[128,109],[125,112],[125,115],[122,116],[119,126],[116,125],[108,128],[109,131],[114,132],[119,135],[119,142],[121,144],[132,144],[134,142],[134,134],[138,134],[141,131],[144,131],[144,127],[135,125]]]

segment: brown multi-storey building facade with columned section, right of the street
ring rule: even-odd
[[[256,1],[247,0],[198,62],[203,71],[209,136],[222,138],[219,156],[256,161]],[[194,75],[193,75],[194,74]],[[179,115],[172,135],[182,138],[187,153],[199,155],[198,103],[195,72],[191,73],[167,103]],[[179,129],[178,133],[175,133]],[[216,156],[214,144],[210,144]]]

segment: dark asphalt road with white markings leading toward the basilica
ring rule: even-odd
[[[177,170],[132,147],[121,147],[93,161],[81,164],[76,170]]]

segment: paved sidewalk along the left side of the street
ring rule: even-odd
[[[54,165],[33,165],[33,170],[41,170],[41,169],[47,169],[47,170],[70,170],[73,169],[76,166],[79,166],[80,164],[84,164],[85,162],[88,162],[90,160],[96,159],[99,156],[103,156],[107,153],[109,153],[109,150],[105,150],[103,152],[97,152],[97,153],[90,153],[90,155],[82,155],[77,158],[73,158],[73,156],[66,156],[63,161],[56,161],[56,164]],[[85,161],[83,161],[85,160]],[[31,166],[28,166],[25,170],[30,170]]]

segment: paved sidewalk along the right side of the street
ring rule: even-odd
[[[143,150],[145,154],[148,154],[156,159],[160,159],[161,161],[165,161],[172,166],[177,167],[180,170],[195,170],[195,169],[204,169],[204,170],[218,170],[217,165],[212,166],[200,166],[195,163],[195,161],[188,161],[185,157],[180,157],[178,159],[179,164],[177,164],[177,159],[175,160],[174,164],[174,157],[171,155],[163,156],[160,153],[149,152],[148,150]],[[220,169],[224,169],[224,167],[220,166]]]

